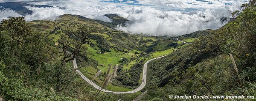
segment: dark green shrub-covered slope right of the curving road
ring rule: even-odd
[[[178,100],[170,99],[170,94],[256,96],[256,1],[241,9],[227,25],[149,63],[148,94],[143,101]],[[188,36],[197,38],[192,33],[180,39]]]

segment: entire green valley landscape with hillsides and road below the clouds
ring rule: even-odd
[[[116,30],[133,22],[116,14],[3,19],[0,101],[255,101],[172,98],[256,96],[255,12],[250,0],[226,25],[180,36]]]

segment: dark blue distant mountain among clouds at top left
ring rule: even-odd
[[[5,10],[5,9],[11,9],[23,16],[32,14],[33,11],[26,8],[26,6],[38,7],[38,8],[52,7],[50,5],[31,5],[31,4],[20,3],[20,2],[6,2],[6,3],[0,3],[0,11]],[[61,8],[61,7],[59,7],[59,8]],[[65,8],[61,8],[61,9],[65,9]]]

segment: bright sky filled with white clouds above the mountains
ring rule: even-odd
[[[91,19],[111,22],[105,14],[117,14],[129,20],[116,27],[131,34],[177,36],[198,30],[217,29],[224,24],[221,17],[231,17],[247,0],[0,0],[52,8],[27,7],[34,11],[26,21],[57,19],[63,14],[78,14]],[[60,9],[64,7],[66,9]],[[0,11],[0,20],[8,16],[21,16],[12,10]],[[207,21],[207,22],[206,22]]]

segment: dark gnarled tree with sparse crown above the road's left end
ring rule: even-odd
[[[78,31],[73,31],[67,27],[64,34],[60,33],[58,48],[62,49],[64,53],[61,60],[62,64],[74,60],[75,56],[78,56],[82,52],[81,49],[86,49],[84,45],[90,43],[90,34],[94,31],[94,28],[81,25]]]

